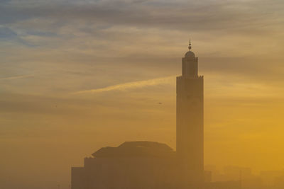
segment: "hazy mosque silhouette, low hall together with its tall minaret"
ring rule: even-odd
[[[84,167],[72,167],[72,189],[239,188],[239,182],[210,183],[204,172],[203,76],[191,48],[177,77],[177,151],[145,141],[103,147]]]

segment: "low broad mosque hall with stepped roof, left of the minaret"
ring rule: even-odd
[[[72,189],[175,188],[175,151],[158,142],[104,147],[72,168]]]

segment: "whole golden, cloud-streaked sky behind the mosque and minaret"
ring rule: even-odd
[[[204,161],[282,170],[282,0],[1,0],[0,188],[67,188],[106,146],[175,149],[175,77],[204,75]]]

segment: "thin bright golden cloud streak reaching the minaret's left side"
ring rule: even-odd
[[[102,93],[107,91],[124,91],[131,88],[143,88],[147,86],[156,86],[159,84],[170,84],[171,81],[175,79],[175,76],[168,76],[168,77],[161,77],[157,79],[149,79],[149,80],[143,80],[143,81],[134,81],[124,84],[117,84],[113,86],[107,86],[104,88],[94,88],[91,90],[85,90],[85,91],[77,91],[74,94],[82,94],[82,93]]]

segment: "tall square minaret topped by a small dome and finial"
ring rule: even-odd
[[[203,76],[198,75],[198,57],[190,51],[182,58],[182,76],[177,77],[177,155],[182,170],[194,181],[202,181]]]

